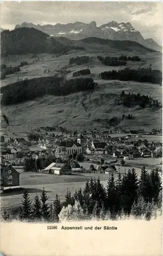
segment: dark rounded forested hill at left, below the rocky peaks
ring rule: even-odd
[[[1,32],[2,56],[28,53],[64,53],[72,49],[78,48],[74,45],[65,46],[54,37],[34,28],[18,28]]]

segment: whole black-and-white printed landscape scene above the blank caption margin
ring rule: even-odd
[[[162,3],[2,2],[1,222],[161,218]]]

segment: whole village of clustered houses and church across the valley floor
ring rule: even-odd
[[[161,166],[161,157],[161,130],[78,133],[41,127],[24,138],[1,131],[1,191],[20,186],[20,169],[51,175],[106,175],[121,172],[125,166]]]

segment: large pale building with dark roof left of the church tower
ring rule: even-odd
[[[66,149],[66,154],[82,153],[82,146],[76,141],[61,141],[56,148],[56,154],[64,155],[65,150],[62,151],[63,148]]]

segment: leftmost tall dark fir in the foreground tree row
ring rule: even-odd
[[[22,201],[22,208],[19,213],[19,217],[22,220],[30,220],[31,214],[32,214],[32,211],[31,211],[32,202],[30,200],[30,196],[27,190],[24,191],[23,198],[24,200]]]

